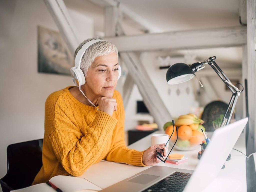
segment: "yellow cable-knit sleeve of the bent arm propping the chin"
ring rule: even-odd
[[[83,135],[66,115],[66,111],[56,105],[55,130],[49,136],[49,142],[63,168],[73,176],[82,175],[98,160],[102,153],[102,144],[112,135],[117,119],[103,111],[97,111],[93,122]]]

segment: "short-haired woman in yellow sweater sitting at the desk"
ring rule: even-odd
[[[99,38],[83,41],[74,58],[86,42],[94,39]],[[115,90],[118,66],[118,51],[111,42],[94,43],[81,60],[80,68],[86,79],[81,91],[69,86],[49,95],[45,103],[43,165],[32,185],[47,182],[56,175],[80,176],[102,159],[140,166],[160,162],[155,149],[164,148],[165,144],[153,145],[145,151],[125,145],[124,106]]]

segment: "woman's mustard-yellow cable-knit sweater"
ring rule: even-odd
[[[71,87],[51,93],[46,99],[43,165],[32,185],[56,175],[80,176],[102,159],[146,166],[142,163],[144,151],[125,145],[120,93],[114,90],[118,111],[110,116],[78,101],[69,92]]]

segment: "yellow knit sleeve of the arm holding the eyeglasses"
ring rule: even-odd
[[[137,151],[134,149],[130,149],[125,145],[125,141],[124,141],[125,112],[124,112],[123,101],[120,93],[119,93],[119,102],[118,102],[117,108],[118,110],[120,110],[120,112],[118,115],[118,124],[116,125],[116,128],[114,130],[115,143],[112,149],[110,150],[110,152],[108,153],[108,155],[106,156],[106,160],[146,167],[146,165],[142,163],[142,155],[145,150]]]

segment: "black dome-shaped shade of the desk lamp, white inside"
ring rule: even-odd
[[[192,69],[185,63],[175,63],[166,72],[166,81],[170,85],[189,81],[193,77]]]

